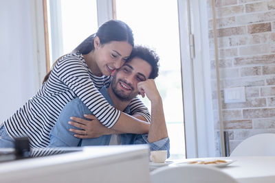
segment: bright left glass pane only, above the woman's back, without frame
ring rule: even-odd
[[[96,0],[61,0],[63,53],[69,53],[98,29]]]

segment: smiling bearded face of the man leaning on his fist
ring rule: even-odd
[[[141,58],[135,57],[126,62],[113,75],[111,83],[113,93],[122,101],[130,101],[139,93],[137,83],[147,80],[151,69],[151,65]]]

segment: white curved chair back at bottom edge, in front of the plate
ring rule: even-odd
[[[217,167],[188,164],[180,167],[166,167],[151,172],[151,183],[237,183]]]

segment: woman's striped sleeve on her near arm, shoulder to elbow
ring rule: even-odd
[[[56,75],[93,112],[105,127],[113,127],[120,117],[120,110],[111,106],[91,80],[87,67],[74,56],[56,63]]]

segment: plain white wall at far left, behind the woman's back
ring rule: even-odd
[[[0,0],[0,123],[39,87],[34,1]]]

